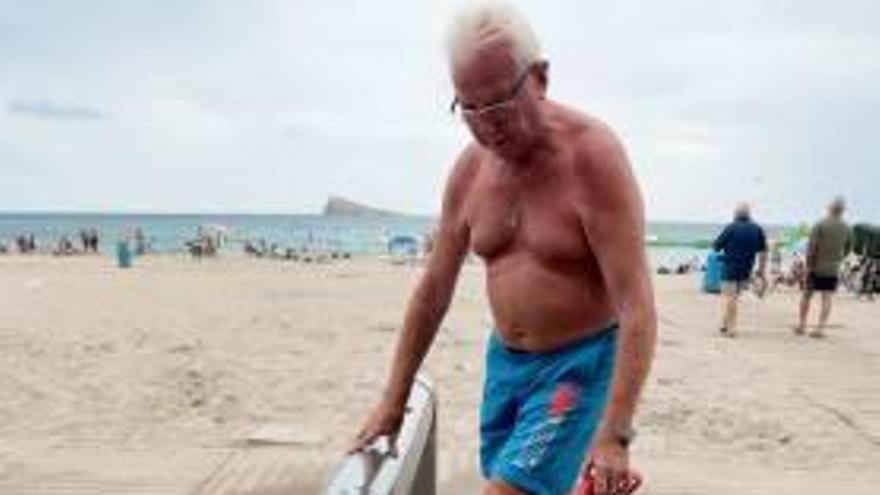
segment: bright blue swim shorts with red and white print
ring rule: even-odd
[[[486,479],[532,495],[572,489],[605,411],[616,330],[546,353],[509,349],[492,332],[480,410]]]

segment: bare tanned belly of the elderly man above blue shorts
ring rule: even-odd
[[[546,352],[599,333],[616,321],[598,273],[540,263],[493,263],[487,292],[505,345]]]

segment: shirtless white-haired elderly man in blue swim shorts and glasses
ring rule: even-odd
[[[626,155],[603,123],[547,98],[548,64],[512,7],[470,7],[449,41],[453,106],[474,142],[448,179],[384,394],[352,450],[400,427],[473,250],[495,320],[480,414],[484,493],[568,493],[588,449],[598,493],[622,493],[656,340]]]

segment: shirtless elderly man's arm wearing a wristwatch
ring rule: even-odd
[[[597,448],[630,428],[654,355],[657,315],[645,253],[642,199],[623,148],[610,130],[589,139],[579,179],[581,211],[620,328],[614,376]]]

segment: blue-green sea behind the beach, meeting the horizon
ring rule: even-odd
[[[16,237],[33,234],[38,250],[50,251],[64,236],[78,246],[80,230],[96,229],[100,250],[109,252],[117,241],[141,229],[152,251],[171,253],[183,251],[200,228],[210,228],[224,232],[229,252],[242,251],[246,241],[265,241],[281,249],[375,254],[385,252],[394,236],[424,239],[435,222],[434,216],[409,214],[0,212],[0,243],[11,248]],[[720,222],[649,221],[651,258],[676,263],[702,257],[723,227]],[[765,226],[769,238],[791,228]]]

